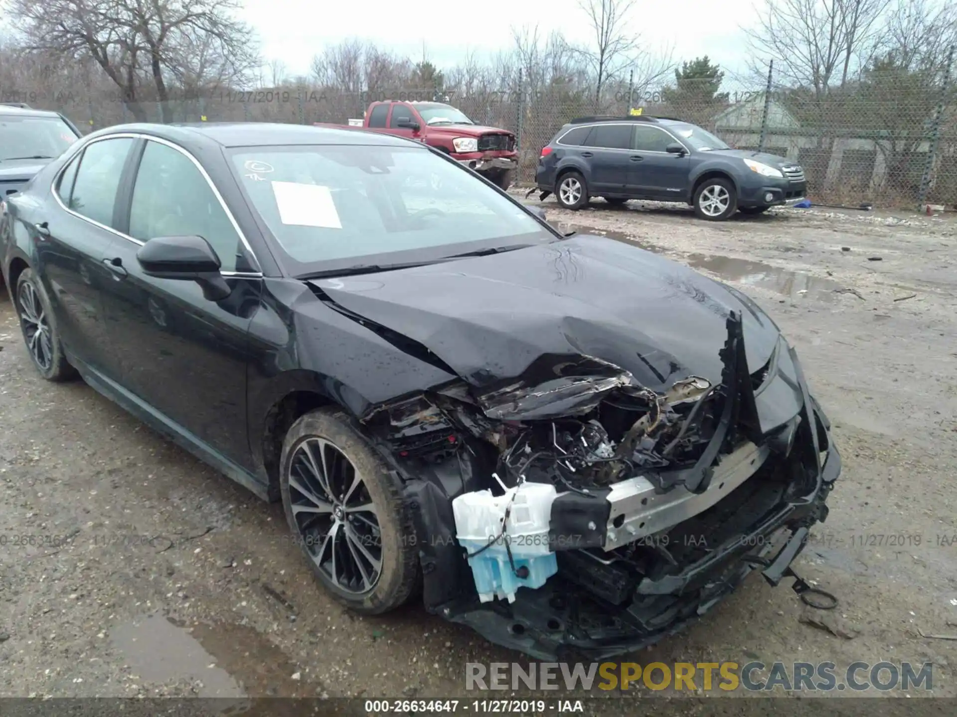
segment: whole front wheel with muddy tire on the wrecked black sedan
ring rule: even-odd
[[[364,615],[405,603],[421,579],[412,515],[345,412],[302,416],[279,465],[286,521],[323,588]]]

